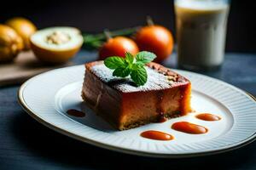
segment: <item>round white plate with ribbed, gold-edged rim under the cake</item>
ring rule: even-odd
[[[256,102],[248,94],[225,82],[189,71],[178,71],[192,82],[192,107],[197,112],[221,116],[217,122],[195,118],[196,113],[117,131],[83,105],[80,97],[84,65],[48,71],[25,82],[19,91],[20,104],[29,115],[57,132],[89,144],[125,153],[157,156],[201,156],[233,150],[256,136]],[[67,115],[82,110],[84,117]],[[208,133],[188,134],[173,130],[173,122],[188,121],[208,128]],[[140,136],[145,130],[171,133],[175,139],[159,141]]]

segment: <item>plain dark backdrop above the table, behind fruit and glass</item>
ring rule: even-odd
[[[172,0],[38,0],[5,1],[1,5],[0,22],[14,16],[32,20],[38,28],[48,26],[75,26],[84,32],[99,32],[141,26],[147,15],[154,22],[174,29]],[[255,1],[231,2],[227,34],[227,51],[256,52]]]

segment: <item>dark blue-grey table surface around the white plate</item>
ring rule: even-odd
[[[96,53],[81,51],[73,61],[95,59]],[[173,54],[164,64],[175,68],[175,63]],[[203,74],[256,96],[256,54],[226,54],[219,71]],[[28,116],[18,104],[18,89],[0,88],[0,169],[256,169],[256,142],[223,154],[183,159],[131,156],[84,144]]]

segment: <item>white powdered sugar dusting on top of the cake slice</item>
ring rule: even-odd
[[[96,75],[96,77],[99,77],[103,82],[106,83],[116,82],[112,84],[112,87],[124,93],[160,90],[170,88],[172,83],[175,83],[168,80],[165,75],[159,73],[158,71],[154,71],[148,66],[146,66],[146,70],[148,73],[148,81],[143,86],[137,87],[134,83],[132,83],[130,77],[125,79],[121,77],[113,77],[113,70],[108,69],[108,67],[106,67],[104,64],[94,65],[91,67],[91,71]]]

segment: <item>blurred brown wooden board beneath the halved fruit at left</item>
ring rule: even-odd
[[[25,82],[44,71],[71,65],[45,65],[31,51],[20,53],[14,62],[0,64],[0,87]]]

